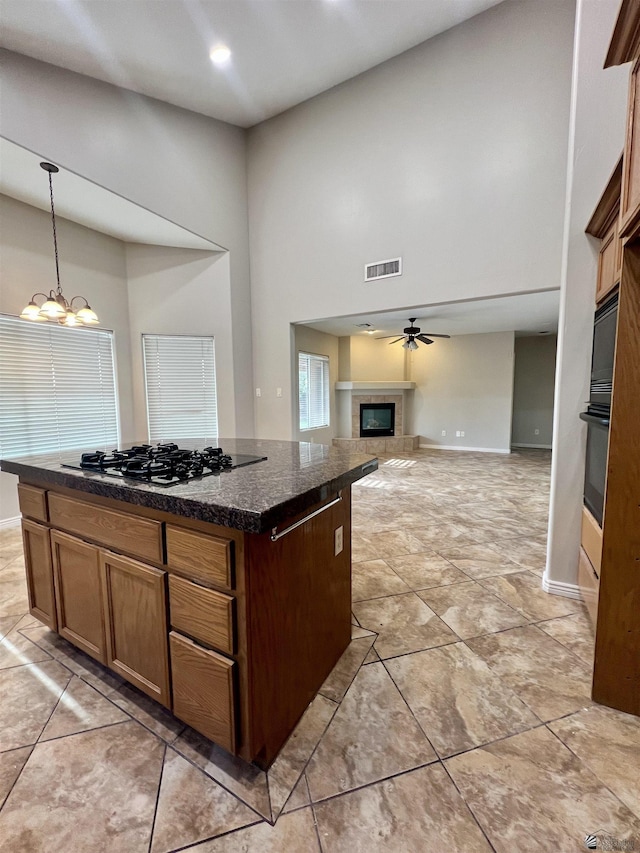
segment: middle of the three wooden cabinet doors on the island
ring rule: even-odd
[[[92,658],[106,663],[104,609],[98,549],[51,531],[58,633]]]

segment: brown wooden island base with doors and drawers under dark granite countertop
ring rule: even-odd
[[[23,521],[31,612],[267,767],[351,638],[350,490],[289,519],[274,540],[70,489],[20,488],[23,511],[48,518]],[[140,553],[144,562],[131,556]]]

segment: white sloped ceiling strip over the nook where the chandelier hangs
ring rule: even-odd
[[[0,137],[0,193],[50,211],[49,175],[40,168],[43,159]],[[210,240],[66,169],[53,175],[53,200],[56,216],[125,243],[223,251]]]

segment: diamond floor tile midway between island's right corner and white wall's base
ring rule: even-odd
[[[475,581],[421,590],[418,595],[462,639],[526,624],[517,611]]]

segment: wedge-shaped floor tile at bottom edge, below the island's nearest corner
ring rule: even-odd
[[[271,826],[259,823],[181,853],[321,853],[310,808],[282,815]]]

